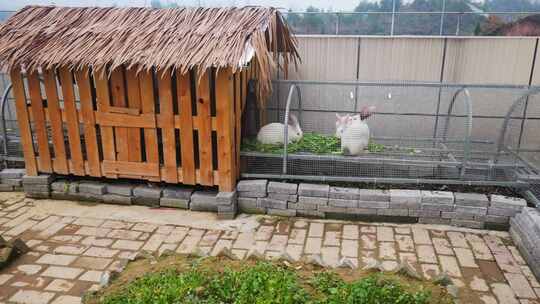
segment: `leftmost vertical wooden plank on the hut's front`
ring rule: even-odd
[[[18,67],[10,71],[11,83],[13,85],[13,95],[15,96],[15,108],[17,110],[17,123],[21,135],[21,144],[24,154],[24,165],[26,174],[37,175],[37,162],[34,153],[34,143],[32,141],[32,130],[30,128],[30,119],[28,107],[26,106],[26,97],[24,96],[24,82],[21,71]]]

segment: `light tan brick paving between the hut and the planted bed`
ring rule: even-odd
[[[224,247],[240,258],[256,248],[269,258],[320,254],[330,265],[343,257],[359,267],[376,259],[389,270],[408,260],[426,278],[447,272],[463,303],[540,303],[540,284],[506,232],[252,216],[217,221],[214,214],[0,193],[0,234],[32,248],[0,272],[0,303],[80,303],[104,272],[121,269],[138,251],[216,254]]]

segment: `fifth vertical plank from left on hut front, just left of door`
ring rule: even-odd
[[[99,161],[99,150],[96,135],[96,119],[94,117],[94,106],[92,105],[92,89],[88,68],[83,68],[75,73],[75,79],[79,86],[79,96],[81,97],[81,114],[84,123],[84,141],[86,146],[86,158],[88,160],[88,171],[90,176],[101,176],[101,164]]]

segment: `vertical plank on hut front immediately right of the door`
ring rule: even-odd
[[[161,136],[163,139],[163,179],[168,183],[178,182],[176,165],[176,141],[174,135],[174,111],[172,98],[171,70],[158,72],[159,114],[163,118]]]

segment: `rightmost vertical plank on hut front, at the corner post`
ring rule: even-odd
[[[236,182],[234,81],[231,68],[216,76],[217,153],[219,190],[233,191]]]

